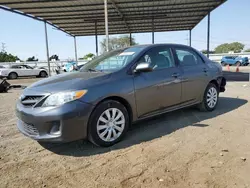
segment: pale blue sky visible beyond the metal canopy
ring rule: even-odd
[[[250,48],[250,0],[228,0],[211,12],[211,49],[222,43],[241,42]],[[35,56],[46,59],[44,23],[0,9],[0,45],[6,51],[26,60]],[[133,34],[139,44],[150,44],[151,33]],[[48,25],[50,54],[60,59],[74,58],[74,39]],[[104,36],[99,36],[101,41]],[[189,31],[155,33],[155,43],[188,44]],[[207,17],[192,30],[192,46],[206,49]],[[0,46],[1,47],[1,46]],[[100,49],[100,48],[99,48]],[[77,37],[78,58],[87,53],[95,54],[95,37]]]

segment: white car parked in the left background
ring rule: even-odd
[[[32,68],[29,65],[12,65],[6,68],[0,68],[0,76],[9,79],[17,79],[24,76],[47,77],[46,69]]]

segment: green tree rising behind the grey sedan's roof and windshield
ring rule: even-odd
[[[135,42],[135,38],[132,37],[132,46],[136,45],[137,43]],[[112,37],[109,39],[109,50],[115,50],[115,49],[119,49],[119,48],[125,48],[130,46],[130,37],[129,35],[122,35],[119,37]],[[102,51],[105,52],[106,51],[106,38],[103,39],[103,41],[101,42],[101,47],[102,47]]]

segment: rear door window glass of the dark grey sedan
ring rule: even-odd
[[[200,56],[189,49],[176,49],[176,55],[178,57],[181,66],[195,66],[203,63]]]

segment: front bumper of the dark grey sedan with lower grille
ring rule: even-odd
[[[17,127],[24,135],[45,142],[70,142],[87,137],[93,106],[79,100],[59,107],[16,106]]]

